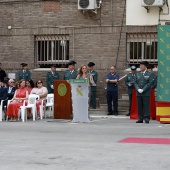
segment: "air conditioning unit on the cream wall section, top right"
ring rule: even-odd
[[[162,7],[165,5],[165,0],[141,0],[142,7],[158,6]]]

